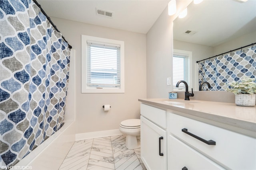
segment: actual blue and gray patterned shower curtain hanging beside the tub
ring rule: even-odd
[[[70,49],[32,0],[0,0],[0,167],[63,125]]]

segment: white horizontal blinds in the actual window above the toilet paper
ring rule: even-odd
[[[87,86],[120,86],[120,45],[87,41]]]

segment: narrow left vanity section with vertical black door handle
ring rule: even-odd
[[[141,104],[140,154],[148,170],[167,169],[167,112]]]

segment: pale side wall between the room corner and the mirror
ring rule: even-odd
[[[172,22],[191,1],[177,1],[173,16],[166,8],[147,33],[147,98],[168,98],[173,89],[166,83],[172,77]]]

